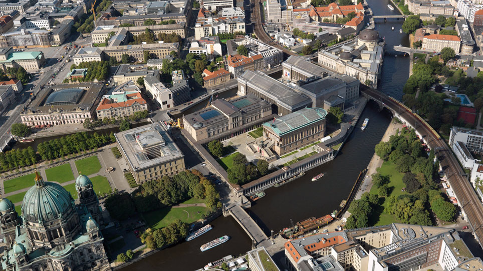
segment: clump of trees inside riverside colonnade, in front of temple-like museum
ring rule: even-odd
[[[228,180],[231,183],[243,185],[256,180],[269,171],[269,163],[264,159],[259,159],[257,165],[249,163],[247,157],[241,153],[233,156],[233,165],[228,168]]]

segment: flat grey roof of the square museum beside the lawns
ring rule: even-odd
[[[184,157],[181,150],[159,123],[151,123],[114,135],[126,159],[135,171]],[[150,159],[143,152],[143,147],[155,144],[163,145],[160,149],[161,156]]]

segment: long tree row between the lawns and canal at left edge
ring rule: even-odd
[[[76,133],[40,143],[37,146],[37,151],[32,147],[28,147],[27,149],[13,149],[7,152],[0,152],[0,168],[2,171],[8,171],[19,167],[31,166],[41,160],[65,157],[68,154],[95,149],[108,142],[115,141],[116,138],[112,132],[110,135]]]

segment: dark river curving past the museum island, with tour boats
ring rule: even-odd
[[[387,8],[388,0],[366,0],[374,15],[397,15],[396,11]],[[385,37],[386,45],[409,45],[407,35],[400,34],[399,29],[403,20],[376,19],[375,28],[381,37]],[[394,26],[394,31],[391,27]],[[408,58],[392,53],[386,53],[382,68],[382,80],[379,90],[401,99],[402,87],[408,78]],[[308,217],[320,217],[330,214],[339,208],[339,204],[349,195],[360,171],[367,167],[374,154],[374,146],[381,140],[390,122],[387,111],[379,111],[373,103],[363,111],[359,123],[369,118],[368,128],[362,132],[355,129],[337,158],[306,173],[302,178],[281,187],[265,190],[267,195],[252,206],[249,213],[270,236],[270,230],[278,232],[284,227]],[[319,174],[325,176],[312,182],[310,179]],[[251,249],[251,240],[247,233],[231,217],[219,217],[211,222],[213,229],[206,234],[189,241],[181,242],[170,248],[161,250],[153,255],[133,263],[123,270],[195,270],[206,263],[220,259],[226,255],[236,256]],[[231,239],[205,252],[199,246],[219,236],[228,235]],[[280,254],[280,253],[279,253]],[[277,263],[282,261],[283,255],[276,255]]]

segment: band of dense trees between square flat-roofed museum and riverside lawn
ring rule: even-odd
[[[176,205],[189,198],[204,199],[210,210],[221,208],[219,194],[213,184],[197,170],[186,170],[174,176],[143,183],[131,194],[114,193],[105,206],[112,218],[124,220],[137,212]]]

